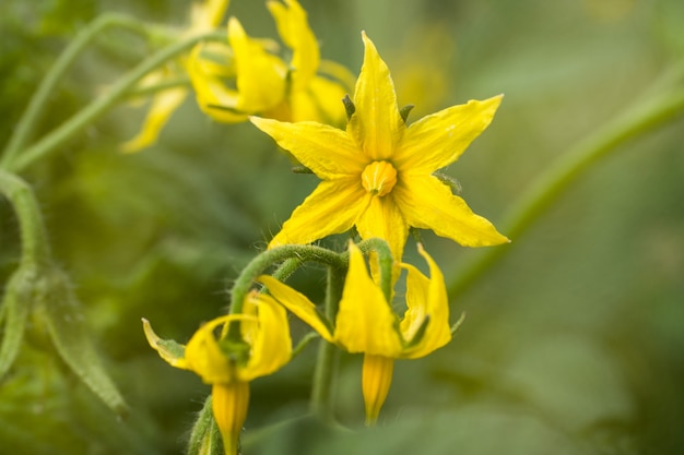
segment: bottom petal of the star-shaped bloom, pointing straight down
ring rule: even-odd
[[[394,261],[401,261],[409,225],[394,202],[393,192],[381,197],[374,196],[356,221],[356,229],[362,239],[380,238],[387,241]]]

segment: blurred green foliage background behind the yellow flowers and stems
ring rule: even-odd
[[[448,172],[495,225],[551,164],[640,99],[682,87],[680,0],[302,0],[323,58],[361,65],[365,29],[415,120],[505,94],[493,124]],[[189,2],[3,0],[0,137],[86,22],[120,11],[182,26]],[[261,1],[233,0],[255,36],[275,37]],[[153,51],[109,31],[46,107],[49,131]],[[144,108],[122,105],[24,177],[55,255],[131,414],[113,416],[52,352],[27,344],[0,383],[0,453],[179,454],[209,387],[145,343],[140,319],[186,342],[224,311],[239,270],[316,185],[250,124],[224,125],[192,99],[160,143],[118,146]],[[582,173],[473,286],[452,296],[455,340],[398,362],[378,428],[362,428],[359,358],[342,356],[337,414],[304,418],[315,347],[252,384],[246,454],[676,454],[684,452],[684,119]],[[500,227],[507,234],[504,227]],[[0,283],[17,263],[0,201]],[[448,279],[476,261],[425,234]],[[412,247],[409,247],[411,250]],[[314,267],[297,276],[316,292]],[[320,291],[319,291],[320,292]],[[273,426],[284,422],[281,426]]]

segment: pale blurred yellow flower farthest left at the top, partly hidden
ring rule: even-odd
[[[223,19],[228,3],[228,0],[207,0],[203,3],[193,3],[190,10],[190,25],[180,34],[180,38],[199,35],[215,28]],[[167,68],[149,74],[141,85],[152,86],[181,77],[186,73],[187,56],[179,60],[169,63]],[[150,103],[148,116],[143,120],[141,131],[133,139],[121,145],[122,152],[139,152],[142,148],[154,145],[160,132],[168,122],[170,116],[186,99],[188,93],[188,88],[178,86],[164,89],[154,95]]]

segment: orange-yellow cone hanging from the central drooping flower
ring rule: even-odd
[[[366,427],[375,424],[392,383],[394,359],[382,356],[364,356],[362,392],[366,405]]]

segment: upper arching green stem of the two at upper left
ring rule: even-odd
[[[12,136],[4,149],[1,161],[2,166],[7,166],[11,163],[16,154],[26,145],[26,142],[31,140],[31,135],[40,120],[40,115],[45,111],[49,96],[52,94],[62,75],[73,64],[76,57],[79,57],[83,49],[85,49],[99,33],[115,26],[128,28],[139,34],[146,33],[144,25],[140,21],[117,13],[102,14],[83,28],[64,51],[60,53],[52,68],[50,68],[40,82],[40,85],[38,85],[37,89],[34,92],[26,110],[16,123],[16,128],[12,132]]]

